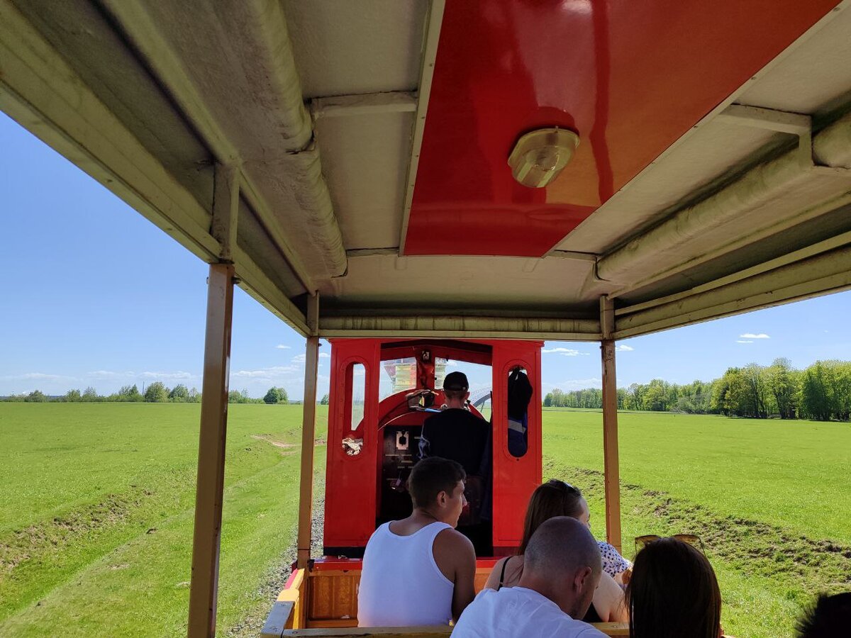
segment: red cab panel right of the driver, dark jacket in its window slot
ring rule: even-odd
[[[508,374],[525,368],[532,384],[528,407],[528,449],[521,458],[508,452]],[[529,497],[541,482],[540,342],[494,343],[494,554],[516,549],[523,538]],[[500,551],[501,548],[501,551]]]

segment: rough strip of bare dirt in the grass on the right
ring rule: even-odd
[[[560,476],[592,498],[603,497],[603,473],[545,463],[546,476]],[[774,580],[790,599],[806,601],[822,591],[851,587],[851,547],[808,538],[782,527],[724,516],[669,493],[621,483],[621,511],[648,521],[661,534],[696,533],[706,554],[745,575]],[[629,553],[631,546],[625,543]]]

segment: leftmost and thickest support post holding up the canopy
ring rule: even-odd
[[[233,280],[233,265],[210,265],[201,435],[198,442],[195,535],[192,540],[192,575],[189,589],[189,638],[208,638],[215,635],[221,505],[225,487]]]

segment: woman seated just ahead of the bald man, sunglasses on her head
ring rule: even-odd
[[[517,549],[517,555],[508,556],[494,565],[485,587],[500,590],[513,587],[523,575],[523,555],[529,539],[544,521],[555,516],[571,516],[588,526],[588,504],[582,493],[574,486],[555,479],[538,486],[526,509],[523,523],[523,541]],[[588,623],[623,623],[626,621],[626,606],[623,590],[610,574],[603,571],[600,584],[594,592],[594,599],[585,618]]]

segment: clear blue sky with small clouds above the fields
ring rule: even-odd
[[[11,271],[0,302],[0,395],[108,394],[160,380],[201,387],[208,266],[0,114],[0,202]],[[796,367],[851,359],[851,293],[620,342],[618,385],[710,380],[786,356]],[[763,335],[763,336],[743,336]],[[320,393],[328,388],[328,345]],[[547,342],[544,390],[600,385],[596,344]],[[304,339],[237,290],[231,389],[303,386]],[[482,385],[481,373],[471,385]]]

